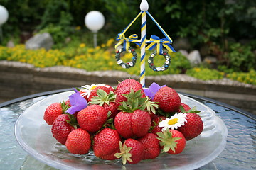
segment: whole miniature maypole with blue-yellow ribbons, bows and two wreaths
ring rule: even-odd
[[[140,63],[140,83],[143,87],[145,87],[145,60],[146,60],[146,50],[155,50],[155,52],[152,52],[149,59],[147,60],[149,63],[149,67],[153,69],[156,72],[164,71],[169,68],[171,64],[171,57],[169,56],[168,52],[176,52],[174,48],[171,46],[172,40],[167,35],[167,33],[161,28],[159,23],[156,22],[156,20],[151,16],[151,14],[148,12],[149,10],[149,4],[146,0],[142,0],[140,4],[141,12],[134,18],[134,20],[129,23],[129,25],[122,30],[121,33],[117,35],[116,40],[119,41],[117,45],[115,45],[116,51],[116,60],[117,64],[119,64],[123,68],[130,68],[134,67],[137,61],[137,52],[134,48],[130,47],[130,42],[133,42],[140,46],[141,49],[141,63]],[[161,30],[161,32],[164,34],[165,38],[160,39],[156,35],[151,35],[150,40],[146,39],[146,16],[149,16],[154,23],[156,23],[156,26]],[[138,39],[138,35],[132,34],[128,38],[125,37],[124,33],[127,32],[127,30],[132,26],[134,21],[139,18],[139,16],[142,16],[142,27],[141,27],[141,38]],[[164,50],[164,48],[167,50]],[[121,54],[122,52],[131,52],[132,53],[132,61],[124,63],[121,60]],[[156,55],[163,55],[165,58],[165,62],[161,67],[154,66],[154,57]]]

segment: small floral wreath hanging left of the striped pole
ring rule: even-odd
[[[128,52],[131,52],[133,57],[132,57],[132,61],[131,62],[127,62],[127,63],[124,63],[121,60],[121,54],[124,51],[126,51],[126,50],[124,50],[124,48],[121,48],[121,49],[117,50],[116,55],[115,55],[115,58],[117,60],[117,64],[122,66],[124,69],[129,69],[131,67],[134,67],[134,65],[136,64],[136,60],[137,60],[137,53],[136,53],[136,51],[134,50],[134,48],[129,47]]]

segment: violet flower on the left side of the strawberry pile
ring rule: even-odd
[[[69,96],[71,107],[66,112],[73,115],[75,112],[81,111],[87,107],[87,101],[83,98],[77,89],[74,89],[75,94]]]

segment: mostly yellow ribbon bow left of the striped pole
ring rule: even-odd
[[[119,45],[124,45],[124,51],[129,50],[130,42],[134,42],[135,44],[140,46],[140,40],[138,40],[138,35],[132,34],[129,36],[129,38],[126,38],[124,34],[118,34],[116,40],[119,42],[114,46],[114,48],[117,48]]]

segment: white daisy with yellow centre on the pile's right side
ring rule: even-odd
[[[166,120],[162,120],[159,123],[159,127],[163,127],[162,131],[171,128],[172,130],[178,129],[187,122],[186,113],[176,113],[175,115],[171,116],[171,118],[166,118]]]

